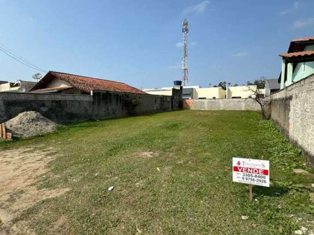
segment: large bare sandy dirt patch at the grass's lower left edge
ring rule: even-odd
[[[37,202],[69,190],[39,190],[32,186],[39,175],[48,171],[46,165],[55,157],[52,153],[52,149],[36,148],[0,150],[0,235],[33,234],[23,223],[12,224],[12,220]]]

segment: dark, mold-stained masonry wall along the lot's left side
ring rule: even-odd
[[[58,123],[118,118],[182,108],[181,91],[173,95],[93,91],[82,94],[0,93],[0,123],[25,111],[37,111]]]

